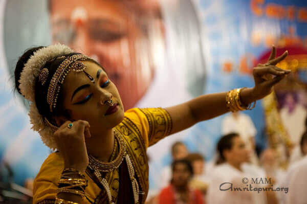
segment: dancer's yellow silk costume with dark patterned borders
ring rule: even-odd
[[[144,203],[148,193],[148,162],[147,147],[157,143],[169,135],[172,127],[171,118],[163,108],[133,108],[125,112],[124,120],[115,128],[122,134],[129,154],[135,168],[136,178],[140,187],[141,202]],[[118,154],[117,143],[111,156],[113,160]],[[123,164],[122,164],[123,165]],[[121,165],[121,166],[122,166]],[[34,180],[33,203],[54,203],[58,180],[64,167],[62,157],[58,152],[48,156],[41,165],[40,171]],[[121,167],[120,167],[121,168]],[[119,169],[120,169],[119,168]],[[117,203],[120,185],[119,169],[106,175],[113,201]],[[107,203],[106,192],[101,188],[94,174],[86,170],[86,179],[89,185],[85,188],[88,196],[83,203]],[[129,177],[129,175],[126,175]]]

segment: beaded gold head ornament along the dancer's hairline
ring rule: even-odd
[[[51,112],[56,107],[57,98],[58,98],[58,95],[59,95],[59,92],[60,92],[60,89],[64,82],[65,77],[67,76],[67,74],[69,74],[71,70],[73,70],[75,73],[84,72],[86,66],[84,65],[84,63],[80,61],[85,61],[85,60],[90,60],[90,61],[95,62],[95,60],[91,59],[90,57],[87,57],[86,55],[75,54],[75,55],[72,55],[66,58],[58,66],[55,74],[53,75],[50,81],[50,85],[48,88],[48,94],[47,94],[47,102],[49,104]],[[89,77],[87,73],[86,73],[86,76]],[[94,79],[91,79],[91,81],[92,80]]]

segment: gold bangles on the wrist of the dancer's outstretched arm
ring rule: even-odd
[[[242,104],[241,98],[240,98],[240,93],[244,88],[236,88],[236,89],[230,90],[226,94],[226,105],[227,105],[227,108],[230,111],[236,112],[236,111],[239,111],[239,110],[251,110],[255,107],[256,101],[249,104],[248,106],[244,106]]]

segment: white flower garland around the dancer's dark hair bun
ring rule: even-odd
[[[20,92],[30,101],[29,117],[31,124],[33,125],[32,129],[40,134],[42,142],[51,149],[56,149],[56,143],[52,137],[53,130],[45,122],[43,116],[38,112],[35,103],[35,80],[38,77],[42,66],[49,60],[70,53],[74,53],[74,51],[63,44],[54,44],[39,49],[29,58],[19,79]]]

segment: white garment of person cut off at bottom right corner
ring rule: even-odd
[[[307,203],[307,156],[292,164],[284,177],[282,186],[289,188],[289,193],[281,194],[281,204]]]

